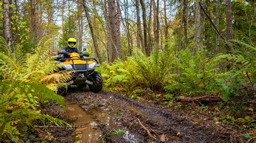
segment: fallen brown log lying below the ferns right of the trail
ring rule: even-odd
[[[203,96],[203,97],[178,97],[176,102],[218,102],[222,99],[218,96]]]

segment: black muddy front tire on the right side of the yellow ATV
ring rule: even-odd
[[[95,73],[92,74],[92,85],[89,85],[90,91],[92,92],[99,92],[102,91],[103,88],[103,79],[102,74],[100,74],[98,71],[95,71]]]

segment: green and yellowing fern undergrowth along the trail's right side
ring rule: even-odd
[[[253,124],[255,117],[248,118],[246,111],[256,110],[256,48],[237,40],[233,47],[233,54],[215,57],[206,50],[177,52],[175,47],[169,47],[167,51],[154,49],[151,56],[146,56],[136,49],[126,61],[117,60],[111,66],[104,63],[98,70],[107,90],[123,91],[133,99],[151,99],[167,106],[174,105],[178,96],[219,96],[224,105],[221,109],[229,115],[223,116],[226,123],[246,120]]]

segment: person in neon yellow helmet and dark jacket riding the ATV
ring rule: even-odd
[[[65,58],[70,58],[70,53],[76,52],[80,57],[83,57],[83,52],[80,52],[78,48],[76,48],[77,40],[75,38],[69,38],[68,46],[60,49],[58,54],[63,54]]]

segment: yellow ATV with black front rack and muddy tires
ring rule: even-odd
[[[89,53],[83,53],[83,56],[89,56]],[[76,71],[72,74],[72,80],[68,82],[68,87],[72,85],[79,85],[79,87],[86,87],[92,92],[99,92],[103,88],[102,75],[95,71],[99,67],[98,61],[95,58],[80,58],[78,53],[70,53],[70,58],[64,58],[64,55],[59,56],[60,59],[57,64],[62,63],[60,70]],[[58,88],[57,94],[66,95],[67,89],[65,87]]]

